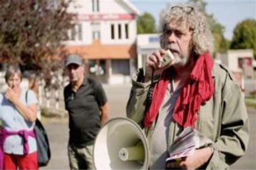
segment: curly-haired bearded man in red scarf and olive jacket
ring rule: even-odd
[[[223,65],[214,64],[213,36],[194,6],[161,13],[159,51],[147,57],[145,74],[133,76],[127,117],[141,125],[150,146],[150,169],[165,169],[169,148],[192,127],[212,143],[169,164],[170,168],[226,169],[248,145],[248,116],[241,90]]]

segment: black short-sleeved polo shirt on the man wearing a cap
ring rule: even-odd
[[[92,145],[100,129],[100,109],[107,102],[102,85],[85,77],[77,90],[71,84],[64,89],[65,108],[69,112],[69,143],[77,147]]]

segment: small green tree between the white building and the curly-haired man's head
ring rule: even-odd
[[[137,33],[146,34],[146,33],[155,33],[156,26],[154,17],[148,13],[143,13],[142,16],[137,18]]]

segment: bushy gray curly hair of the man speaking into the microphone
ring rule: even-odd
[[[160,16],[160,44],[166,44],[165,31],[167,26],[175,22],[180,26],[190,26],[192,30],[192,49],[196,54],[212,53],[214,48],[213,36],[206,21],[206,17],[195,6],[179,5],[169,6],[161,12]]]

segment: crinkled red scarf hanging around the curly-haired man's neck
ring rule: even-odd
[[[212,67],[213,59],[211,55],[208,53],[200,55],[180,91],[174,106],[173,119],[183,128],[187,126],[194,127],[200,105],[210,100],[213,95]],[[144,118],[144,125],[147,128],[150,128],[158,115],[169,82],[170,69],[166,69],[153,89],[152,103]]]

